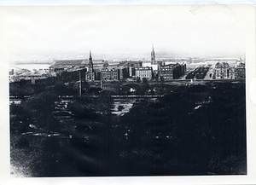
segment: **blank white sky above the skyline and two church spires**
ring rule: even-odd
[[[9,7],[10,61],[79,55],[107,58],[243,56],[241,5]],[[20,57],[20,58],[19,58]]]

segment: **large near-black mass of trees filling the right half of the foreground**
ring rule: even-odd
[[[127,164],[117,169],[133,176],[246,174],[245,118],[241,84],[197,85],[142,101],[114,132]]]

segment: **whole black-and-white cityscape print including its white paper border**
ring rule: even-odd
[[[1,8],[10,178],[252,175],[252,4]]]

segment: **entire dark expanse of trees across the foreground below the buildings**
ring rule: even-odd
[[[137,99],[123,116],[112,113],[110,91],[88,98],[95,91],[87,90],[68,104],[66,119],[53,112],[72,88],[31,90],[10,106],[12,165],[25,176],[247,174],[244,83],[157,88],[163,97]]]

